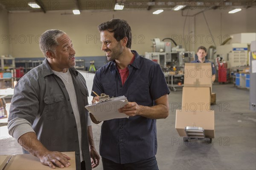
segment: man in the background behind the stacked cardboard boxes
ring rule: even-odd
[[[207,49],[204,46],[198,47],[198,51],[196,54],[198,55],[198,59],[195,61],[192,61],[193,63],[210,62],[209,60],[207,60],[205,58],[207,56]],[[212,64],[212,82],[214,82],[215,81],[215,67],[212,62],[210,62],[210,63]]]

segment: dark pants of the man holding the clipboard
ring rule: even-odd
[[[103,170],[158,170],[155,156],[128,164],[117,164],[102,157]]]

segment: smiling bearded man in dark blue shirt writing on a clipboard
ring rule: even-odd
[[[110,62],[96,71],[93,91],[126,96],[129,103],[119,112],[130,116],[103,122],[99,146],[103,169],[158,170],[156,119],[169,115],[170,92],[164,74],[156,62],[130,49],[131,27],[125,20],[102,23],[99,31],[102,51]],[[91,95],[92,102],[99,101]]]

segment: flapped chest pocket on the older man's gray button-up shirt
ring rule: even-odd
[[[65,116],[63,94],[50,94],[44,96],[44,112],[46,119],[49,121],[56,121],[63,119]]]

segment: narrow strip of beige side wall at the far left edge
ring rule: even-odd
[[[0,56],[10,54],[9,51],[9,20],[8,11],[0,8]]]

